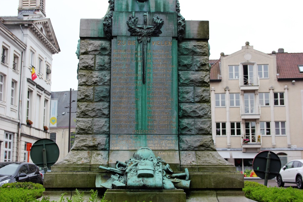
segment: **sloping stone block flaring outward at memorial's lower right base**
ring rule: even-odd
[[[221,157],[217,151],[197,151],[196,157],[198,165],[232,165]]]

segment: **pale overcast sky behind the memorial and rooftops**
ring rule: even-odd
[[[134,0],[135,1],[135,0]],[[102,18],[108,0],[45,0],[61,52],[53,55],[52,91],[77,90],[80,18]],[[179,0],[185,20],[209,21],[210,59],[230,55],[249,41],[254,49],[271,53],[303,52],[303,1]],[[18,15],[19,0],[0,0],[0,16]]]

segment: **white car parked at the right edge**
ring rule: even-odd
[[[288,162],[276,177],[279,187],[284,187],[284,183],[297,184],[298,189],[303,189],[303,159]]]

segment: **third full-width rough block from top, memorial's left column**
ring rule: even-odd
[[[108,102],[77,102],[78,118],[109,118]]]

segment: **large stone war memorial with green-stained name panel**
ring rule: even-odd
[[[251,201],[212,140],[208,39],[178,0],[109,0],[104,18],[81,19],[75,143],[45,194]]]

